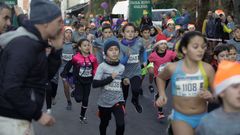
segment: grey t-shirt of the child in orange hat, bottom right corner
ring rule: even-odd
[[[226,113],[220,107],[201,120],[196,135],[240,135],[240,112]]]

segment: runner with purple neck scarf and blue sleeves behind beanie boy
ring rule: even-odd
[[[147,64],[147,53],[143,43],[135,38],[135,26],[131,23],[123,27],[123,40],[121,41],[121,63],[125,65],[123,76],[130,80],[132,89],[132,100],[136,111],[142,113],[142,106],[139,104],[139,94],[141,89],[141,63],[144,67]],[[143,57],[141,59],[141,57]],[[141,62],[142,60],[142,62]],[[128,97],[129,85],[122,85],[124,99]]]

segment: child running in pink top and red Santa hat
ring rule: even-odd
[[[155,84],[156,84],[156,77],[158,76],[158,72],[160,69],[159,67],[164,64],[167,64],[168,62],[174,61],[176,58],[176,55],[177,55],[172,50],[167,49],[167,40],[161,40],[161,39],[158,39],[158,40],[154,44],[154,46],[156,48],[155,51],[152,52],[148,58],[149,62],[153,62],[153,65],[154,65],[154,68],[153,67],[149,68],[149,72],[154,73]],[[166,87],[168,85],[168,82],[169,82],[169,80],[166,83]],[[156,97],[155,100],[157,100],[159,95],[156,94],[155,97]],[[158,108],[158,119],[162,119],[164,117],[165,116],[163,114],[162,107],[159,107]]]

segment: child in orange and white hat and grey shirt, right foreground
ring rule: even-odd
[[[196,129],[197,135],[240,134],[240,64],[223,61],[214,79],[215,95],[222,107],[206,115]]]

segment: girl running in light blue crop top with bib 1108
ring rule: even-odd
[[[174,135],[194,135],[195,128],[207,113],[207,101],[212,98],[208,85],[213,82],[214,69],[202,62],[206,47],[206,39],[200,32],[186,33],[179,46],[183,60],[167,64],[158,75],[158,107],[167,103],[166,80],[171,79]]]

